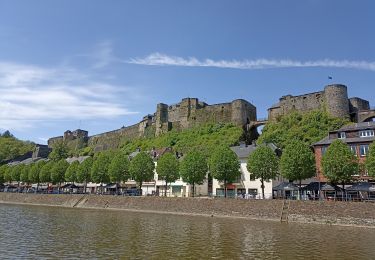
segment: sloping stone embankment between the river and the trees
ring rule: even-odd
[[[282,200],[0,193],[0,203],[280,221]],[[375,228],[375,204],[290,201],[289,222]]]

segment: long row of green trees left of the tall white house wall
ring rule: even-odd
[[[63,154],[64,151],[56,150],[52,158],[61,158]],[[166,153],[159,158],[156,171],[158,178],[165,180],[165,192],[168,184],[181,177],[183,181],[192,185],[194,194],[195,185],[204,182],[209,168],[211,176],[223,181],[225,187],[240,176],[236,154],[224,146],[218,147],[210,160],[199,151],[188,153],[181,162],[173,153]],[[148,153],[140,152],[129,160],[122,151],[110,151],[99,153],[93,158],[89,157],[82,163],[75,161],[70,165],[65,159],[39,161],[30,165],[3,165],[0,167],[0,182],[36,183],[37,187],[39,183],[51,182],[61,185],[62,182],[80,182],[85,183],[86,188],[89,181],[120,183],[132,179],[141,188],[143,182],[154,179],[154,170],[154,161]]]

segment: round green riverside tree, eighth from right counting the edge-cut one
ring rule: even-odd
[[[151,156],[145,152],[140,152],[130,161],[130,175],[133,180],[138,182],[139,189],[142,190],[142,184],[154,178],[155,164]]]

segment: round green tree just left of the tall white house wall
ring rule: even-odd
[[[209,166],[212,177],[224,182],[224,196],[226,198],[227,184],[234,182],[241,176],[240,162],[236,153],[228,147],[218,147],[209,160]]]

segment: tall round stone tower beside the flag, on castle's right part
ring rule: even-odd
[[[327,112],[334,117],[349,119],[348,89],[345,85],[332,84],[324,88]]]

